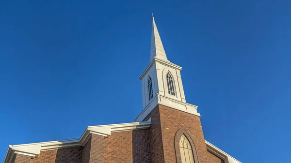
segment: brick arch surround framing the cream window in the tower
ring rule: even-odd
[[[179,129],[177,131],[177,133],[175,134],[175,138],[174,138],[174,145],[175,145],[175,152],[176,152],[176,160],[177,160],[177,163],[182,163],[181,153],[180,153],[180,147],[179,147],[179,141],[180,141],[180,137],[182,136],[182,134],[184,134],[186,136],[186,138],[190,142],[190,145],[191,145],[191,148],[192,148],[192,152],[193,152],[193,156],[194,156],[194,162],[195,163],[199,163],[198,155],[197,155],[197,150],[196,150],[194,141],[192,140],[191,136],[186,132],[185,129]]]

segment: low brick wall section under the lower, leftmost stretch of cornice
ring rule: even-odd
[[[82,147],[41,151],[30,163],[81,163]]]

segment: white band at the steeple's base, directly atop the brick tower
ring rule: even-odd
[[[160,94],[157,94],[153,100],[144,108],[144,110],[136,117],[135,121],[136,122],[141,122],[143,121],[146,116],[158,105],[162,104],[168,107],[171,107],[173,109],[177,109],[189,114],[193,114],[195,116],[199,116],[200,114],[197,113],[197,107],[193,104],[188,104],[185,102],[181,102]]]

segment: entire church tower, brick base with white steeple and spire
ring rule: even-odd
[[[135,119],[151,121],[151,163],[210,163],[208,158],[213,157],[206,148],[197,106],[186,103],[181,70],[168,60],[152,17],[150,62],[139,77],[143,110]]]

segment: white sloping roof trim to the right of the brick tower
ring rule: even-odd
[[[225,161],[225,163],[241,163],[240,161],[231,157],[229,154],[222,151],[221,149],[215,147],[214,145],[212,145],[208,141],[205,140],[205,143],[206,143],[207,150],[209,150],[211,153],[213,153],[217,157],[223,159]]]

